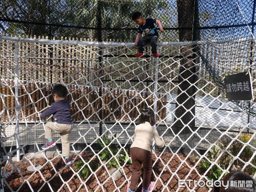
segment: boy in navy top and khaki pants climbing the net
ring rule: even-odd
[[[72,131],[72,119],[70,116],[70,103],[65,100],[67,96],[67,88],[62,84],[57,84],[52,89],[52,97],[54,103],[44,113],[39,113],[38,117],[44,118],[52,115],[56,122],[47,122],[45,124],[45,138],[46,143],[42,149],[52,148],[56,143],[52,140],[52,130],[57,131],[61,136],[62,156],[66,165],[73,163],[70,158],[70,142],[69,136]]]

